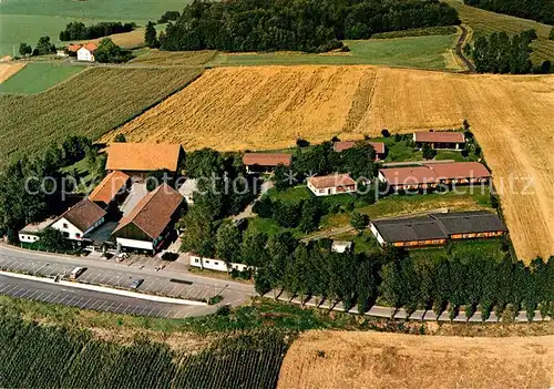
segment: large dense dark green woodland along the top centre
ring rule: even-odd
[[[343,39],[459,22],[439,0],[195,0],[160,42],[164,50],[325,52]]]

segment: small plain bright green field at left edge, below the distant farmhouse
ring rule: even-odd
[[[0,93],[39,93],[71,75],[82,72],[84,66],[54,63],[28,63],[23,69],[0,84]]]

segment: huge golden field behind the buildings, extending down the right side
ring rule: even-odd
[[[187,150],[275,150],[297,137],[452,129],[468,119],[493,171],[516,253],[531,259],[554,253],[552,112],[554,76],[217,68],[103,140],[121,132],[130,141],[179,142]]]

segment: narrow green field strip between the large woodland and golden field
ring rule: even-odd
[[[377,64],[421,69],[459,69],[453,63],[452,48],[458,35],[429,35],[397,39],[346,41],[347,53],[306,54],[277,53],[218,53],[208,65],[267,65],[267,64]]]

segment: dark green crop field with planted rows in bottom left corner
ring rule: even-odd
[[[2,388],[270,388],[288,348],[269,331],[229,334],[199,349],[186,338],[173,349],[144,336],[120,345],[4,317],[0,339]]]

